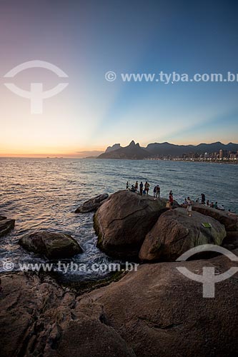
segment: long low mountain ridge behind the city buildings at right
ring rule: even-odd
[[[205,152],[219,153],[219,150],[227,150],[227,151],[235,151],[238,150],[238,144],[222,144],[221,142],[217,141],[216,143],[212,144],[199,144],[199,145],[174,145],[165,143],[154,143],[148,144],[146,150],[149,151],[154,156],[179,156],[182,154],[187,153],[197,153],[197,154],[204,154]]]

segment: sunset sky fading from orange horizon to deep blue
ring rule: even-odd
[[[0,156],[85,156],[132,139],[237,143],[238,81],[122,80],[238,74],[237,13],[236,0],[0,0]],[[37,67],[4,77],[29,61],[67,77]],[[68,85],[36,114],[6,83],[29,92]]]

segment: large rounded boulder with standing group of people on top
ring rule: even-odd
[[[167,211],[166,202],[130,191],[113,193],[94,216],[97,245],[110,256],[137,258],[147,232]]]

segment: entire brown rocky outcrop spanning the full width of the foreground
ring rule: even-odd
[[[238,251],[234,251],[238,255]],[[2,357],[233,357],[237,356],[237,274],[203,298],[204,266],[223,273],[227,257],[154,263],[109,286],[76,296],[49,278],[1,275]]]

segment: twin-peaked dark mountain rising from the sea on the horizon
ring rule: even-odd
[[[134,140],[129,144],[129,146],[125,146],[124,148],[120,147],[114,151],[107,151],[104,154],[99,155],[98,159],[145,159],[151,156],[151,154],[142,149],[139,146],[139,143],[135,144]]]

